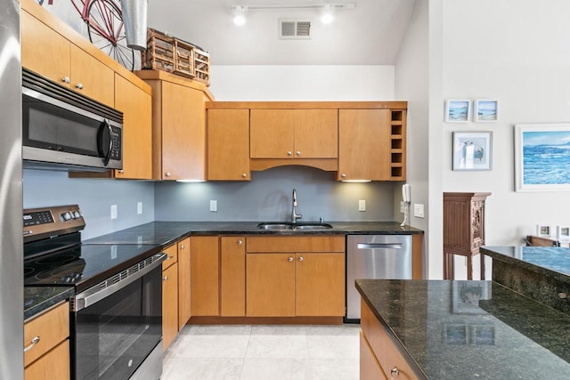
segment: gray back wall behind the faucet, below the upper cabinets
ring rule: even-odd
[[[284,221],[297,189],[297,214],[303,221],[391,221],[392,182],[336,182],[334,174],[305,166],[282,166],[256,172],[252,182],[158,182],[158,221]],[[218,211],[209,211],[217,200]],[[358,200],[366,200],[366,212]]]

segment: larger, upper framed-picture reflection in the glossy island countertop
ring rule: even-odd
[[[479,307],[479,301],[488,300],[491,295],[490,281],[453,281],[452,313],[453,314],[485,314]]]

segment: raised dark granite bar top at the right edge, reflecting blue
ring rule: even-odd
[[[484,246],[480,250],[493,259],[570,284],[570,248]]]

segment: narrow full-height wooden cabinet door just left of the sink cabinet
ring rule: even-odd
[[[246,315],[246,239],[220,238],[220,315]]]

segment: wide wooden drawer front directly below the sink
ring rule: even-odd
[[[345,252],[345,237],[249,237],[248,252]]]

